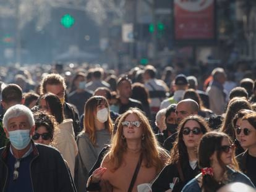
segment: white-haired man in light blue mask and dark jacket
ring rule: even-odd
[[[10,142],[0,149],[0,191],[76,191],[61,154],[31,140],[35,120],[28,107],[10,107],[3,127]]]

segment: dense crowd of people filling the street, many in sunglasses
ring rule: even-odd
[[[0,191],[256,191],[256,81],[158,73],[2,79]]]

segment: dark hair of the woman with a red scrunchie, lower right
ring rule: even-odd
[[[216,151],[216,157],[218,159],[218,162],[221,168],[225,170],[224,179],[228,179],[226,175],[227,167],[224,162],[221,161],[222,151],[220,150],[220,148],[223,138],[228,138],[229,143],[232,143],[231,138],[229,138],[226,133],[211,131],[202,136],[201,141],[198,145],[198,166],[199,168],[211,167],[210,157]],[[234,157],[234,150],[232,154],[232,163],[229,165],[229,167],[235,170],[239,169],[236,158]],[[204,191],[216,191],[218,190],[218,188],[221,187],[221,185],[211,175],[205,175],[203,177],[202,183]]]

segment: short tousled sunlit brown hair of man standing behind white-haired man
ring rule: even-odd
[[[43,77],[40,83],[40,94],[47,93],[46,85],[62,85],[63,91],[67,88],[64,77],[57,73],[51,73]]]

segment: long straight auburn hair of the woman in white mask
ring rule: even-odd
[[[92,96],[85,103],[85,118],[83,119],[83,130],[88,134],[90,141],[95,146],[96,145],[96,127],[95,127],[95,118],[96,118],[96,108],[97,106],[104,104],[109,110],[109,104],[105,97],[103,96]],[[112,134],[113,123],[108,113],[108,120],[105,122],[105,129],[109,131],[109,134]]]

